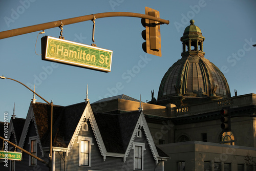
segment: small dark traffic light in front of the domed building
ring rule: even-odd
[[[221,129],[223,132],[231,131],[231,121],[230,121],[230,108],[223,108],[220,111],[221,114]]]

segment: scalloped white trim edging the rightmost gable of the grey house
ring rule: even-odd
[[[152,138],[152,136],[151,136],[150,129],[149,129],[148,126],[147,126],[146,119],[145,119],[145,117],[144,117],[143,111],[140,113],[140,117],[139,117],[139,119],[138,119],[138,121],[137,121],[137,124],[136,124],[136,126],[135,126],[133,135],[132,135],[132,137],[131,137],[131,140],[130,140],[130,142],[129,142],[129,145],[127,146],[126,152],[125,152],[125,154],[124,154],[124,158],[123,158],[124,162],[125,162],[125,160],[126,160],[126,157],[128,157],[131,148],[133,147],[134,139],[135,139],[135,137],[136,137],[136,135],[137,135],[137,132],[138,132],[139,127],[140,127],[140,128],[143,127],[143,131],[144,131],[144,133],[145,133],[147,142],[148,142],[148,144],[150,145],[150,148],[151,148],[151,152],[152,152],[152,154],[153,154],[153,157],[154,157],[154,159],[156,160],[156,163],[158,163],[158,157],[159,157],[159,155],[158,155],[158,152],[157,152],[157,148],[156,148],[155,143],[154,143],[154,141],[153,141],[153,138]]]

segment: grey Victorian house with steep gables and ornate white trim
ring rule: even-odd
[[[49,163],[50,105],[31,102],[20,129],[9,139]],[[19,119],[12,118],[10,125]],[[23,128],[23,129],[22,129]],[[17,141],[16,133],[19,134]],[[14,137],[14,135],[16,135]],[[53,106],[52,170],[159,170],[169,157],[155,146],[143,111],[125,114],[93,112],[89,101]],[[14,147],[10,145],[10,150]],[[1,170],[49,170],[23,153],[22,161],[1,163]]]

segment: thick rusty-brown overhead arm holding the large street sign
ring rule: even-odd
[[[61,25],[61,22],[63,25],[70,25],[70,24],[74,24],[74,23],[92,20],[94,17],[95,18],[104,18],[104,17],[113,17],[113,16],[128,16],[128,17],[146,18],[146,19],[151,19],[151,20],[160,22],[160,24],[169,24],[169,20],[165,20],[165,19],[161,19],[161,18],[157,18],[157,17],[153,17],[150,15],[145,15],[145,14],[139,14],[139,13],[133,13],[133,12],[104,12],[104,13],[68,18],[68,19],[63,19],[63,20],[57,20],[55,22],[33,25],[33,26],[28,26],[28,27],[13,29],[13,30],[2,31],[2,32],[0,32],[0,39],[13,37],[13,36],[17,36],[17,35],[22,35],[22,34],[27,34],[27,33],[32,33],[32,32],[36,32],[36,31],[40,31],[40,30],[51,29],[54,27],[59,27]]]

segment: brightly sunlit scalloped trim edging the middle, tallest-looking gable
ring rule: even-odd
[[[97,144],[99,146],[100,153],[104,157],[104,160],[105,160],[106,148],[105,148],[103,140],[101,138],[99,128],[98,128],[97,122],[95,120],[95,117],[93,115],[93,111],[92,111],[91,104],[90,104],[89,101],[88,101],[88,104],[86,106],[86,109],[84,109],[84,111],[83,111],[83,114],[82,114],[82,116],[81,116],[81,118],[80,118],[80,120],[77,124],[76,130],[75,130],[75,132],[74,132],[74,134],[71,138],[71,141],[68,145],[67,156],[68,156],[69,152],[71,151],[72,146],[75,143],[76,138],[78,137],[79,131],[82,129],[83,121],[86,120],[86,119],[88,119],[90,121],[91,125],[92,125],[92,130],[93,130],[94,136],[96,138]]]

